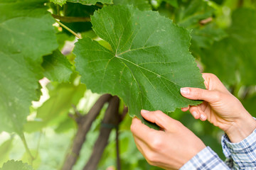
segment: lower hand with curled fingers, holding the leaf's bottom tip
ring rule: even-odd
[[[206,147],[193,132],[161,111],[142,110],[141,113],[143,118],[162,129],[151,129],[137,118],[132,120],[135,144],[149,164],[163,169],[180,169]]]

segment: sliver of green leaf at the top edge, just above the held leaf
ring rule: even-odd
[[[147,0],[113,0],[114,5],[133,5],[140,10],[151,10],[151,5]]]

